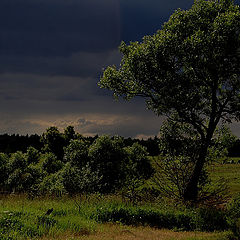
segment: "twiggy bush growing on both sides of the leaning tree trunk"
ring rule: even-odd
[[[199,156],[201,139],[186,123],[166,121],[160,129],[161,155],[154,158],[153,185],[167,198],[184,200],[187,183],[191,179],[192,172]],[[221,126],[217,128],[206,155],[206,163],[226,157],[227,147],[235,140],[235,136],[229,128]],[[220,204],[226,199],[228,185],[224,179],[212,182],[207,164],[202,169],[198,181],[198,202]]]

